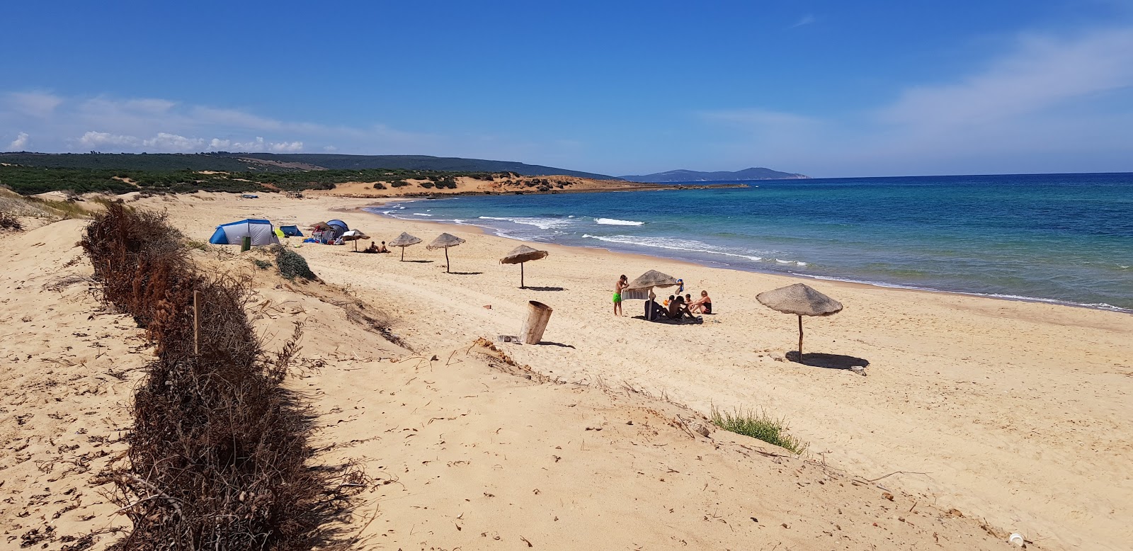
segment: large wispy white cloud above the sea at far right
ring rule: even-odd
[[[722,164],[758,159],[812,176],[1128,171],[1133,28],[1021,35],[968,75],[866,111],[699,115],[739,130],[706,153]]]

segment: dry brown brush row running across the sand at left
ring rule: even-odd
[[[269,357],[245,313],[249,281],[197,270],[164,214],[110,203],[82,246],[103,300],[131,314],[157,354],[134,395],[128,464],[100,475],[134,525],[117,549],[325,541],[320,526],[344,510],[343,490],[364,484],[306,464],[312,417],[282,387],[301,324]]]

